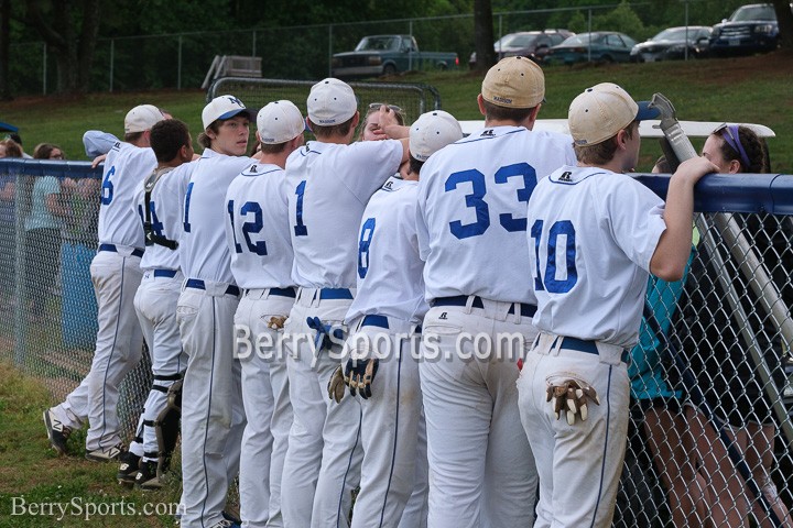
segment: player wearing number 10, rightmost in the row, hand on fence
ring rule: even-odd
[[[577,166],[529,200],[529,262],[539,330],[518,382],[540,473],[535,527],[611,525],[628,431],[627,349],[638,341],[649,272],[678,280],[692,244],[694,185],[716,167],[683,163],[667,201],[622,173],[638,121],[656,111],[602,82],[569,107]]]

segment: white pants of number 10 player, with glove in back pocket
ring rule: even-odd
[[[521,420],[540,473],[535,527],[609,527],[622,473],[630,383],[622,349],[597,343],[599,354],[569,350],[562,338],[542,333],[518,381]],[[577,378],[595,387],[600,405],[573,426],[554,416],[546,384]]]

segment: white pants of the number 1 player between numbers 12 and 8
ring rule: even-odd
[[[352,290],[354,292],[354,290]],[[339,365],[341,344],[315,350],[307,317],[340,324],[351,299],[322,299],[319,289],[301,288],[284,334],[294,421],[281,483],[286,528],[347,528],[352,490],[360,482],[360,405],[332,402],[327,384]]]

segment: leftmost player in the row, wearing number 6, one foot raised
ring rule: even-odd
[[[124,117],[124,141],[105,162],[99,209],[99,251],[90,273],[98,305],[99,330],[88,375],[62,404],[44,411],[50,443],[66,452],[70,432],[88,420],[86,458],[116,460],[123,451],[118,422],[118,387],[138,364],[143,334],[133,299],[141,282],[143,229],[134,207],[138,185],[156,166],[149,147],[151,128],[163,120],[151,105],[134,107]]]

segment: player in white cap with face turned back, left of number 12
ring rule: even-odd
[[[182,393],[182,526],[222,527],[228,484],[239,469],[245,411],[233,315],[239,288],[226,244],[226,190],[252,160],[250,110],[233,96],[213,99],[202,112],[202,156],[187,185],[180,261],[185,282],[176,308],[188,356]]]

